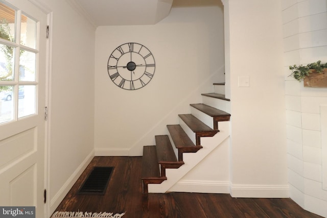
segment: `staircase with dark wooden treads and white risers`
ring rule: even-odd
[[[225,111],[229,111],[230,100],[225,98],[224,85],[214,83],[215,92],[202,94],[203,103],[191,104],[191,114],[179,114],[179,124],[167,125],[169,135],[156,135],[155,146],[143,147],[143,193],[168,191],[229,136],[225,123],[230,114]],[[226,126],[222,132],[221,125]],[[201,143],[204,137],[215,138],[215,142]],[[186,153],[197,154],[184,162]],[[149,184],[157,185],[149,191]]]

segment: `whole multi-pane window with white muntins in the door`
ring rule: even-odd
[[[0,125],[37,113],[37,29],[0,0]]]

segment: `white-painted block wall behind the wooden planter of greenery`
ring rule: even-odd
[[[322,171],[321,152],[325,124],[320,105],[327,104],[327,88],[303,87],[303,82],[288,77],[288,66],[327,62],[327,2],[282,3],[290,195],[301,207],[326,217],[327,190],[322,188],[322,177],[327,172]]]

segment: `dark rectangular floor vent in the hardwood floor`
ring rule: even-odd
[[[94,167],[79,190],[79,195],[104,195],[113,167]]]

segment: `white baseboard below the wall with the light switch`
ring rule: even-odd
[[[289,191],[289,185],[230,185],[233,198],[289,198]]]

